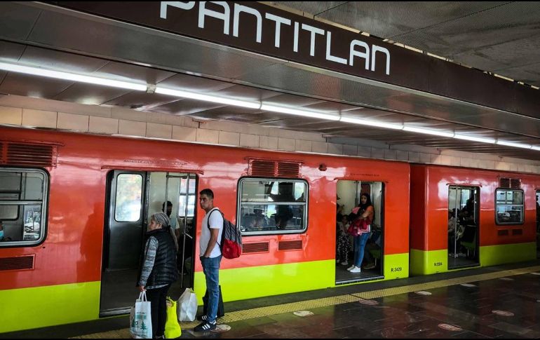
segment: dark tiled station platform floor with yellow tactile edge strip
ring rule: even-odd
[[[540,261],[225,304],[218,329],[181,338],[540,338]],[[0,338],[129,339],[128,316]]]

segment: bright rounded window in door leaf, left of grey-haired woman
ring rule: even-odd
[[[116,222],[137,222],[141,219],[142,176],[120,174],[116,179]]]

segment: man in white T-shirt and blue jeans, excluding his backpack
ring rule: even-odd
[[[220,263],[222,254],[220,240],[223,233],[223,216],[220,209],[214,206],[214,193],[203,189],[199,193],[199,204],[206,212],[201,223],[201,240],[199,250],[203,273],[206,278],[208,292],[208,308],[203,322],[194,328],[195,332],[205,332],[215,329],[217,319],[217,304],[220,301]]]

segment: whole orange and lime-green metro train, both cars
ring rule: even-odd
[[[0,136],[0,332],[126,313],[149,216],[168,200],[182,249],[170,292],[194,287],[200,300],[204,188],[243,233],[241,257],[222,261],[224,301],[536,258],[536,175],[26,128]],[[349,273],[336,263],[336,209],[350,212],[360,193],[380,237],[368,247],[374,268]]]

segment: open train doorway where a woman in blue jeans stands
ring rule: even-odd
[[[382,277],[384,268],[384,184],[382,182],[340,180],[337,182],[336,192],[336,283],[351,283]],[[367,233],[367,238],[361,240],[360,236],[355,238],[350,236],[347,229],[349,229],[348,226],[351,222],[362,213],[358,206],[362,203],[363,195],[369,198],[374,209],[374,216],[370,224],[370,233]],[[361,268],[359,273],[347,270],[358,262],[360,262]]]

